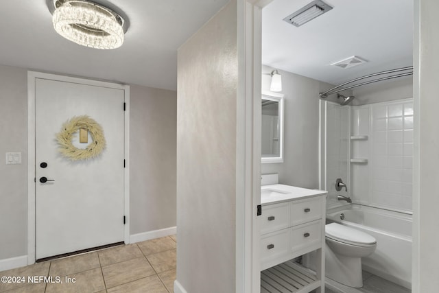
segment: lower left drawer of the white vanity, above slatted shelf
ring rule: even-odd
[[[289,255],[290,229],[283,229],[261,236],[261,270],[285,261]]]

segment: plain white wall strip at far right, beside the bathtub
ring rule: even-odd
[[[439,10],[438,1],[415,0],[414,293],[439,288]],[[418,18],[420,16],[420,19]],[[418,171],[418,172],[417,172]],[[418,212],[417,212],[418,211]]]

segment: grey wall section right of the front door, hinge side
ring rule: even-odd
[[[176,226],[177,93],[130,87],[130,233]]]

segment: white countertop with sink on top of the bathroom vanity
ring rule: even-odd
[[[288,200],[311,198],[327,194],[328,191],[318,189],[307,189],[283,184],[272,184],[261,186],[261,204],[274,204]]]

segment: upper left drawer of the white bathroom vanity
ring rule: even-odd
[[[287,228],[289,226],[289,202],[263,206],[259,220],[261,221],[261,234]]]

